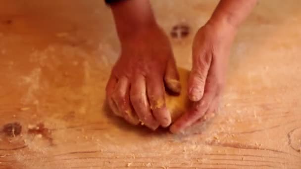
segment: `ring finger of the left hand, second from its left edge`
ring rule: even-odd
[[[116,84],[115,90],[112,93],[112,100],[114,101],[118,111],[122,117],[132,125],[138,125],[138,117],[134,114],[130,105],[129,96],[129,81],[126,77],[121,77]]]

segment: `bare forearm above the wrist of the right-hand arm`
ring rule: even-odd
[[[257,0],[220,0],[208,23],[237,28],[251,13]]]

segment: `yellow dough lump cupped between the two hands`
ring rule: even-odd
[[[180,95],[165,94],[166,106],[171,114],[171,120],[174,122],[178,119],[189,107],[189,98],[187,96],[187,82],[190,71],[179,68],[181,93]]]

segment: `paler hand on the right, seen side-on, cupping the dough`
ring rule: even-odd
[[[217,108],[235,34],[235,27],[218,23],[208,22],[199,29],[193,44],[193,68],[188,82],[188,95],[194,103],[170,127],[171,132],[183,131]]]

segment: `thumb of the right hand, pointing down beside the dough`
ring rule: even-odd
[[[199,101],[204,93],[206,77],[211,64],[211,54],[194,54],[193,58],[193,68],[188,81],[188,96],[192,101]]]

